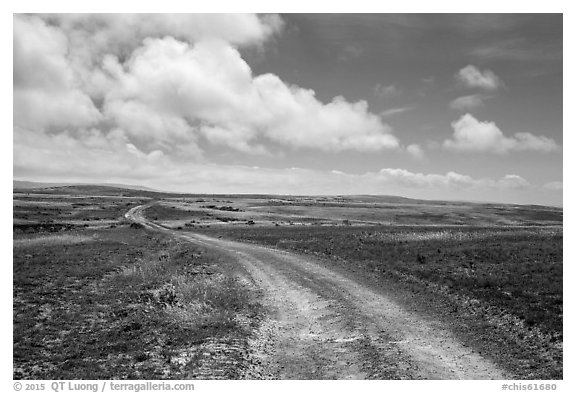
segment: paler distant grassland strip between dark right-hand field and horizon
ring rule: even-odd
[[[395,197],[271,197],[258,195],[158,198],[149,217],[177,226],[561,226],[562,209]],[[186,225],[188,224],[188,225]]]

